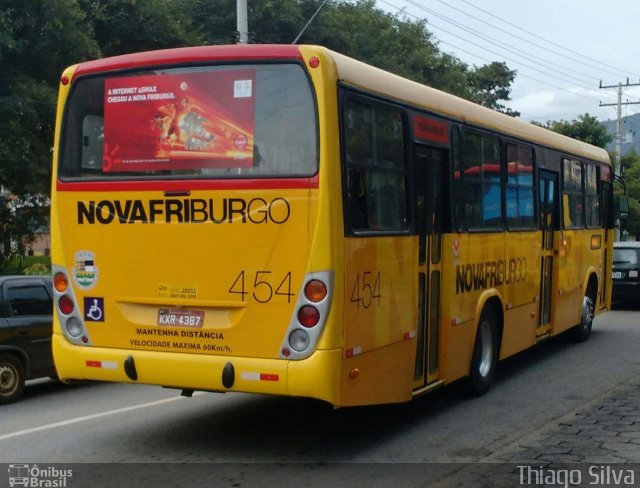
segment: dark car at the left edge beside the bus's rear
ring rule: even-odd
[[[28,379],[56,376],[51,287],[48,276],[0,276],[0,404],[18,400]]]

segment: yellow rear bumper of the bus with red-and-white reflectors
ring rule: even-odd
[[[59,334],[53,335],[52,344],[62,381],[141,383],[185,390],[311,397],[333,405],[340,403],[340,349],[316,351],[307,359],[288,361],[84,347],[69,343]]]

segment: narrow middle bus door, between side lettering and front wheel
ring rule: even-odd
[[[551,328],[551,310],[554,282],[557,281],[558,253],[557,230],[559,228],[558,173],[540,170],[539,184],[540,228],[542,230],[540,262],[540,311],[536,335],[541,336]]]

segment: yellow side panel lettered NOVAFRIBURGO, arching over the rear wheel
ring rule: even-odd
[[[539,241],[535,232],[443,236],[440,350],[446,382],[469,373],[484,297],[501,297],[504,320],[500,358],[535,343]]]

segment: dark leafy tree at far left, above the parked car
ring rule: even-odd
[[[63,68],[98,55],[91,26],[75,0],[0,3],[0,243],[27,233],[7,203],[47,194],[56,90]],[[36,222],[37,223],[37,222]]]

